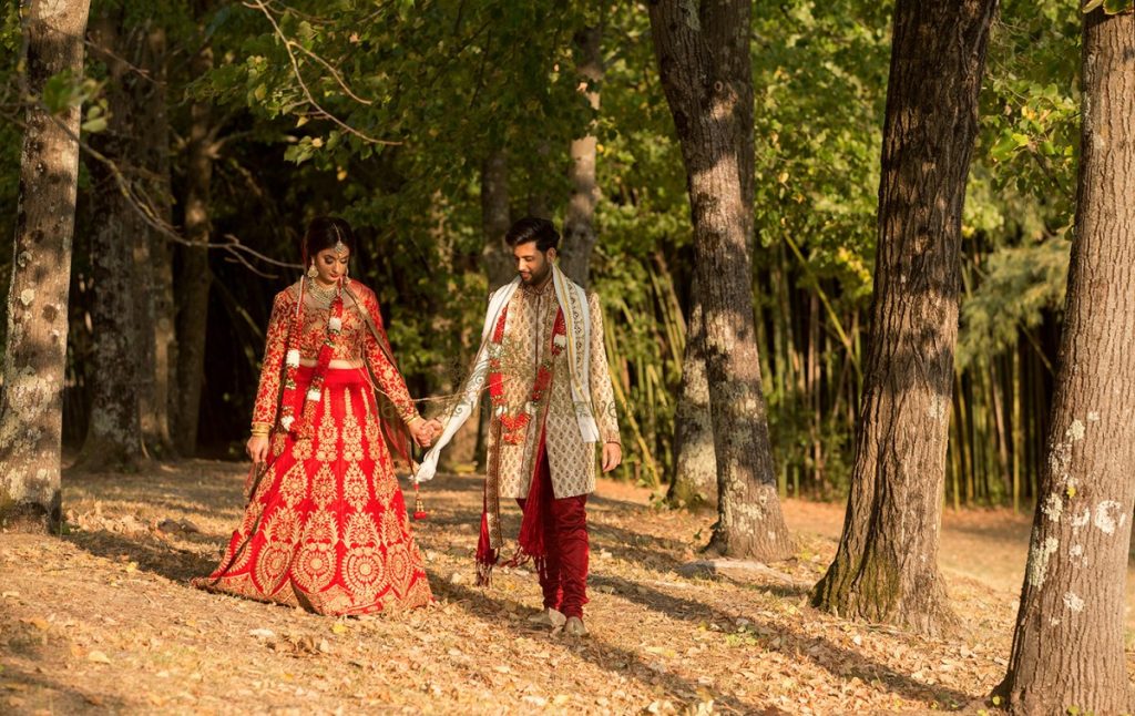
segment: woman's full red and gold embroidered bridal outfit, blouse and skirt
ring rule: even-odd
[[[388,421],[411,420],[417,408],[389,359],[375,294],[358,281],[346,288],[340,321],[331,319],[334,304],[318,305],[300,284],[276,296],[253,414],[254,424],[274,426],[267,469],[247,486],[244,519],[220,565],[193,580],[195,587],[331,615],[432,600],[384,437]],[[329,323],[342,327],[329,331]],[[289,346],[316,359],[321,349],[327,357],[325,345],[331,357],[362,359],[365,367],[285,372]],[[379,414],[367,368],[397,416]],[[295,385],[281,399],[281,379],[289,376]],[[319,393],[305,421],[313,379]]]

